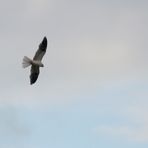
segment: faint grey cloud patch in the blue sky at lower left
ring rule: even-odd
[[[13,136],[13,138],[22,138],[30,134],[29,128],[24,125],[22,118],[18,114],[15,107],[0,105],[0,137],[8,138]],[[24,119],[23,119],[24,120]]]

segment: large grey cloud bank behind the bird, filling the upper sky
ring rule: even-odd
[[[101,88],[108,93],[115,92],[116,85],[122,90],[130,83],[147,82],[147,9],[84,1],[24,3],[17,9],[13,4],[16,17],[8,17],[5,24],[11,25],[1,29],[1,49],[6,49],[0,58],[1,102],[71,103],[81,96],[94,97]],[[22,57],[33,57],[44,35],[49,40],[45,68],[30,87]]]

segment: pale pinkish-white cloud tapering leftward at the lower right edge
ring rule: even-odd
[[[113,139],[119,138],[140,143],[148,142],[148,109],[145,106],[133,105],[121,109],[118,117],[112,124],[98,125],[93,129],[98,135],[105,135]]]

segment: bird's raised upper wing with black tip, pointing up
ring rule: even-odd
[[[33,60],[41,61],[44,54],[46,53],[46,48],[47,48],[47,38],[44,37],[42,42],[39,45],[38,50],[35,53]]]

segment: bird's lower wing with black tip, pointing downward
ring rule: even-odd
[[[39,73],[40,73],[39,66],[32,65],[30,72],[31,72],[31,74],[30,74],[30,84],[32,85],[33,83],[36,82],[36,80],[37,80],[37,78],[39,76]]]

